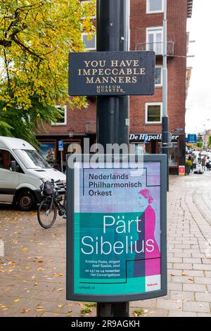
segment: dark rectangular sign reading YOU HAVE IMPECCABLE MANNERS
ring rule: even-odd
[[[69,54],[72,96],[153,95],[154,92],[154,51]]]

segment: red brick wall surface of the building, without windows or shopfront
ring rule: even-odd
[[[174,55],[186,56],[186,17],[187,0],[167,0],[167,40],[174,42]],[[146,15],[146,0],[131,0],[131,50],[136,43],[146,42],[146,27],[162,26],[162,14]],[[157,58],[156,63],[162,63]],[[168,58],[168,114],[170,132],[175,127],[185,126],[186,100],[186,58]],[[154,96],[130,97],[130,132],[161,132],[161,125],[145,124],[145,103],[162,101],[162,87],[155,89]],[[96,121],[96,107],[93,102],[86,110],[68,110],[68,125],[46,125],[49,134],[64,135],[70,132],[85,133],[85,123]],[[96,125],[96,123],[95,123]]]

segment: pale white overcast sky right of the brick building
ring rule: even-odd
[[[190,32],[187,65],[192,75],[186,101],[186,133],[203,132],[211,129],[211,0],[193,0],[193,15],[188,18]]]

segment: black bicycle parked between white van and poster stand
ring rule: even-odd
[[[64,188],[66,189],[65,185]],[[58,215],[66,218],[66,194],[63,196],[58,195],[58,189],[55,187],[54,181],[46,181],[41,186],[41,195],[44,200],[39,204],[37,210],[37,218],[41,227],[49,229],[56,220],[56,213],[58,208]],[[63,200],[63,204],[60,201]]]

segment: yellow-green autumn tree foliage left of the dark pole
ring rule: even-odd
[[[0,1],[0,135],[36,144],[32,131],[59,116],[56,104],[87,106],[68,96],[68,53],[84,51],[82,32],[93,35],[95,2]]]

